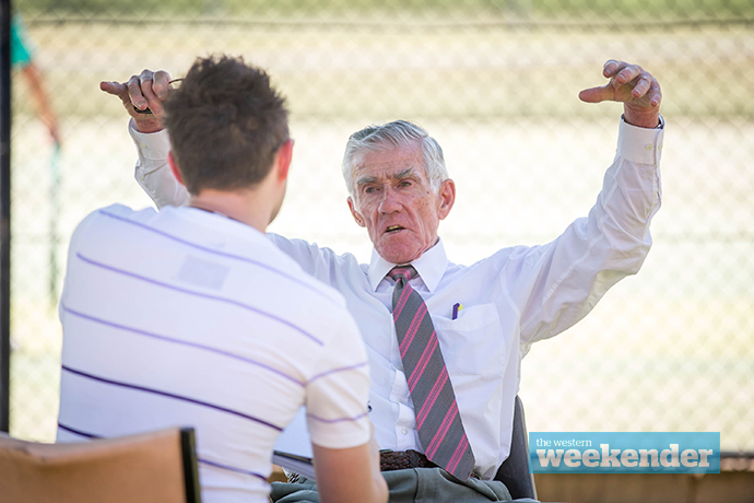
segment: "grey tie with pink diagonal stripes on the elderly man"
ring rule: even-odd
[[[453,477],[467,480],[474,467],[474,453],[463,430],[427,306],[409,284],[416,270],[411,266],[396,267],[388,276],[396,281],[392,319],[424,454]]]

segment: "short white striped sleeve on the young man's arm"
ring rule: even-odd
[[[306,387],[311,442],[328,448],[364,445],[372,435],[366,350],[353,317],[345,309],[341,313],[342,321],[322,348],[317,371]]]

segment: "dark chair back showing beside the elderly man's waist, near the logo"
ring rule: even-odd
[[[537,500],[534,476],[529,470],[529,434],[523,416],[523,402],[516,396],[514,409],[514,433],[510,442],[510,454],[497,469],[495,480],[505,483],[514,500],[531,498]]]

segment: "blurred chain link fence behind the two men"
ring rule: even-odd
[[[645,267],[523,360],[531,431],[719,431],[754,451],[754,4],[751,0],[27,0],[60,119],[56,153],[14,80],[11,431],[55,435],[68,241],[93,209],[150,204],[101,80],[175,77],[243,55],[288,96],[296,152],[271,231],[368,260],[340,160],[363,126],[435,136],[458,186],[450,258],[544,243],[584,215],[612,161],[617,104],[587,105],[610,58],[660,81],[663,208]],[[16,74],[17,77],[17,74]],[[59,179],[58,179],[59,177]]]

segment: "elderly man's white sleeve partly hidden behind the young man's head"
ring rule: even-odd
[[[139,132],[133,125],[133,119],[131,119],[128,132],[131,134],[139,153],[134,176],[157,208],[188,203],[188,190],[173,176],[167,164],[167,153],[170,151],[167,130],[163,129],[150,133]]]

